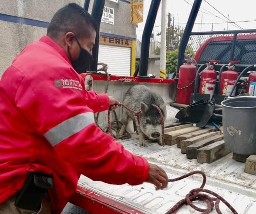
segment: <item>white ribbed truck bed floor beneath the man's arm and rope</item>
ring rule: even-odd
[[[181,154],[176,145],[160,146],[146,141],[145,147],[139,147],[138,135],[121,140],[124,147],[133,154],[140,155],[164,168],[168,177],[175,178],[194,170],[202,170],[207,175],[206,189],[210,189],[224,197],[239,214],[254,214],[256,210],[256,176],[244,172],[244,163],[232,159],[232,153],[211,164],[199,164],[197,160],[188,160],[186,154]],[[147,214],[166,213],[176,202],[185,198],[193,188],[202,183],[201,175],[194,175],[184,180],[169,183],[167,189],[155,191],[154,186],[144,183],[138,186],[112,185],[95,182],[81,176],[79,187],[89,189],[132,209]],[[202,202],[195,204],[206,207]],[[223,213],[231,213],[223,203],[220,203]],[[177,214],[199,213],[188,205],[184,205]],[[215,209],[212,213],[216,213]]]

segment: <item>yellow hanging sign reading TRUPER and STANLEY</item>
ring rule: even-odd
[[[143,22],[143,1],[130,0],[130,23]]]

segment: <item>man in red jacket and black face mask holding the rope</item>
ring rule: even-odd
[[[0,213],[59,214],[81,174],[95,181],[167,186],[160,167],[94,123],[119,104],[85,91],[97,25],[77,4],[58,10],[47,36],[28,45],[0,81]]]

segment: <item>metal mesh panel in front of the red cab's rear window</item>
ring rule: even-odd
[[[198,64],[209,60],[219,60],[219,64],[230,60],[239,60],[239,64],[245,65],[256,64],[256,30],[215,33],[191,33],[186,52],[194,53]]]

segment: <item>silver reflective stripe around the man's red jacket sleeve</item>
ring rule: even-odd
[[[94,113],[86,112],[78,114],[50,129],[44,134],[44,137],[52,146],[55,146],[92,123],[94,123]]]

